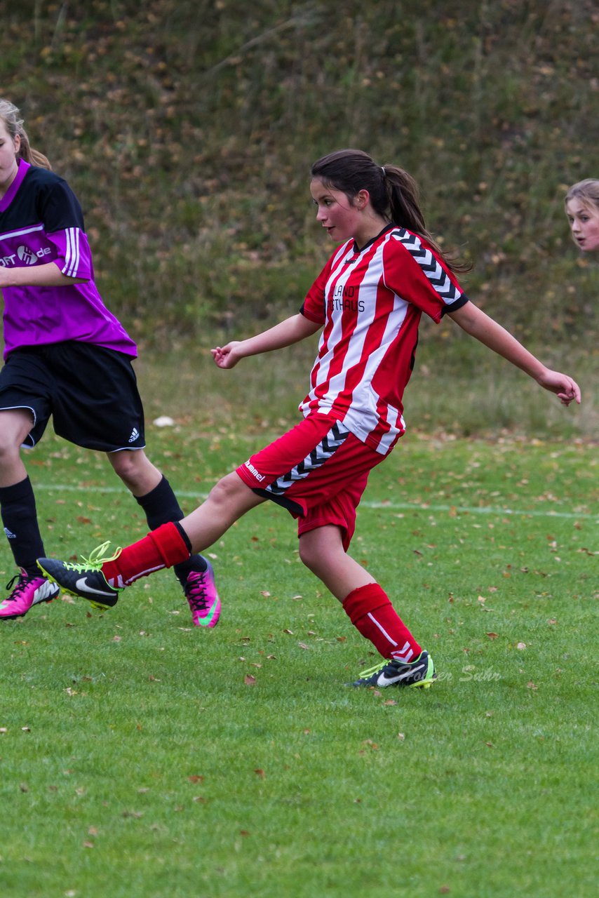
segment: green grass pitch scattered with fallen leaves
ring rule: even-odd
[[[186,507],[257,445],[233,430],[150,428]],[[99,456],[28,457],[48,552],[145,532]],[[2,894],[590,898],[595,512],[591,445],[404,438],[352,550],[435,657],[425,693],[344,685],[374,655],[273,507],[210,552],[214,631],[167,571],[5,622]]]

